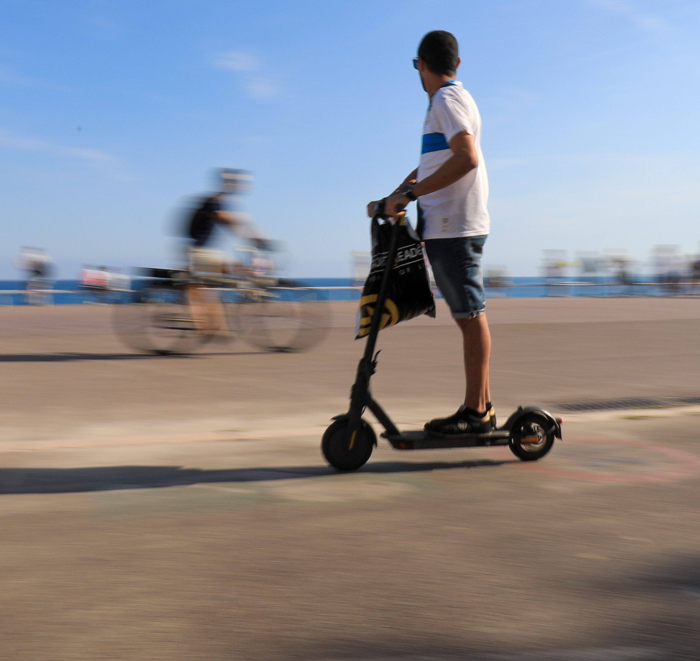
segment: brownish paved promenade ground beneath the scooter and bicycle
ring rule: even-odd
[[[304,355],[176,358],[122,348],[106,307],[0,310],[0,658],[699,658],[697,409],[565,416],[535,464],[381,444],[337,475],[352,308]],[[408,427],[462,387],[440,312],[381,337]],[[700,394],[698,299],[489,315],[500,414]]]

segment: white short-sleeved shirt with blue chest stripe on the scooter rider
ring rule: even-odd
[[[479,236],[489,234],[491,229],[486,208],[489,177],[481,150],[481,115],[472,95],[458,80],[445,83],[430,100],[417,179],[426,178],[449,159],[449,141],[461,131],[474,136],[479,165],[454,184],[418,198],[423,239]]]

